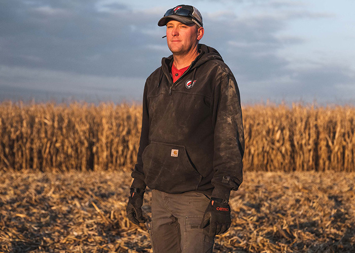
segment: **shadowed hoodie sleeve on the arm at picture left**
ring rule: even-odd
[[[142,113],[142,126],[141,126],[141,132],[140,132],[140,140],[139,140],[139,148],[138,148],[138,154],[137,154],[137,163],[134,165],[134,170],[131,174],[133,180],[133,183],[131,185],[131,188],[140,188],[140,189],[146,189],[146,183],[145,183],[145,175],[143,172],[143,160],[142,160],[142,154],[144,149],[148,146],[149,144],[149,112],[148,112],[148,102],[147,102],[147,82],[144,87],[144,93],[143,93],[143,113]]]

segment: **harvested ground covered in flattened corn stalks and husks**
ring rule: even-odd
[[[124,171],[1,173],[0,252],[152,252],[125,217]],[[355,173],[246,172],[214,252],[354,252],[354,184]]]

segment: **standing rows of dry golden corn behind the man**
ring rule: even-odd
[[[245,171],[355,170],[355,108],[244,106]],[[0,170],[132,167],[140,105],[0,103]]]

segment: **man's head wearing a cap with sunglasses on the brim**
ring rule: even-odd
[[[169,9],[158,25],[166,25],[168,48],[176,56],[193,52],[204,34],[202,16],[193,6],[180,5]]]

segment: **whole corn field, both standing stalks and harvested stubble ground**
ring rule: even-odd
[[[214,252],[353,252],[355,108],[242,110],[243,184]],[[140,126],[140,105],[0,103],[0,253],[152,252],[125,210]]]

